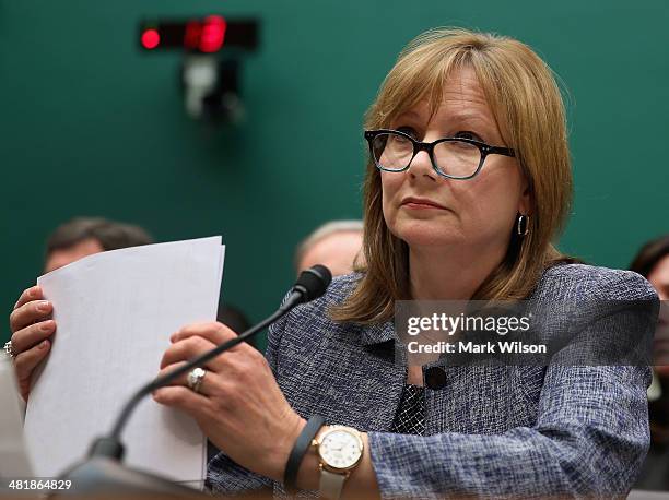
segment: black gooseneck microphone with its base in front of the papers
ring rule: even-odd
[[[322,296],[328,289],[328,286],[330,286],[331,281],[332,274],[325,265],[314,265],[303,271],[291,288],[290,295],[273,314],[237,337],[218,345],[213,349],[203,353],[139,389],[124,406],[111,432],[106,437],[97,438],[89,451],[87,460],[66,471],[61,475],[61,478],[71,479],[78,492],[95,492],[99,487],[103,487],[107,490],[120,489],[141,492],[160,491],[167,495],[192,496],[196,490],[191,488],[171,483],[156,475],[124,468],[120,465],[125,453],[120,434],[130,415],[137,405],[153,391],[167,385],[176,378],[189,372],[193,368],[204,365],[210,359],[215,358],[220,354],[225,353],[237,344],[256,335],[258,332],[265,330],[267,326],[285,316],[295,306]]]

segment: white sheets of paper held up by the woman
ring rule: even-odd
[[[214,321],[221,237],[86,257],[38,278],[57,331],[25,417],[37,477],[56,477],[111,430],[121,407],[154,379],[169,335]],[[206,439],[193,419],[151,397],[121,436],[125,463],[176,481],[202,480]]]

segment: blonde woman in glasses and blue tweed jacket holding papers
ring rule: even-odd
[[[274,324],[266,358],[238,345],[154,394],[223,450],[212,489],[629,490],[648,444],[647,368],[394,362],[398,299],[655,299],[641,276],[565,264],[551,246],[571,172],[550,70],[508,38],[429,32],[400,55],[366,126],[365,269]],[[24,305],[38,293],[20,300],[13,340],[38,317]],[[161,373],[235,335],[184,328]]]

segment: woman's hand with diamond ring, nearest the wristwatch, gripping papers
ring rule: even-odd
[[[236,336],[221,323],[185,326],[172,335],[159,374]],[[192,416],[210,441],[243,467],[282,480],[306,421],[291,408],[262,354],[242,343],[202,368],[207,374],[199,393],[188,389],[184,376],[155,391],[154,400]]]

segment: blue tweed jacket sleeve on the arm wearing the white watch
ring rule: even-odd
[[[657,303],[648,285],[630,274],[619,284],[636,285],[627,297]],[[624,328],[636,330],[620,318],[597,321],[585,348],[597,352],[598,335]],[[624,496],[649,444],[649,382],[647,366],[553,362],[532,427],[503,434],[369,432],[382,497]]]

